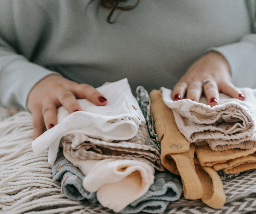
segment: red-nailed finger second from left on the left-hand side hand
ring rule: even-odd
[[[43,103],[42,114],[44,117],[44,124],[47,130],[58,124],[57,108],[53,102]]]

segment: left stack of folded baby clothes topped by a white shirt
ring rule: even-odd
[[[139,87],[135,99],[127,79],[97,90],[106,106],[78,100],[83,111],[70,115],[60,107],[58,125],[32,142],[33,151],[49,147],[54,180],[69,199],[98,201],[120,213],[163,212],[182,186],[160,162],[147,91]]]

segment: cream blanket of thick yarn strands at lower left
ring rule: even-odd
[[[114,213],[98,203],[75,202],[60,195],[60,183],[52,180],[47,162],[48,151],[35,155],[32,137],[28,112],[0,122],[0,213]]]

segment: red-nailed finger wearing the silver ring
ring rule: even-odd
[[[203,91],[205,93],[208,104],[212,107],[218,105],[219,90],[215,81],[209,81],[203,85]]]

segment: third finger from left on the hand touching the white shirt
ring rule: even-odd
[[[75,111],[82,111],[77,99],[70,91],[61,91],[57,94],[60,104],[68,111],[69,114]]]

